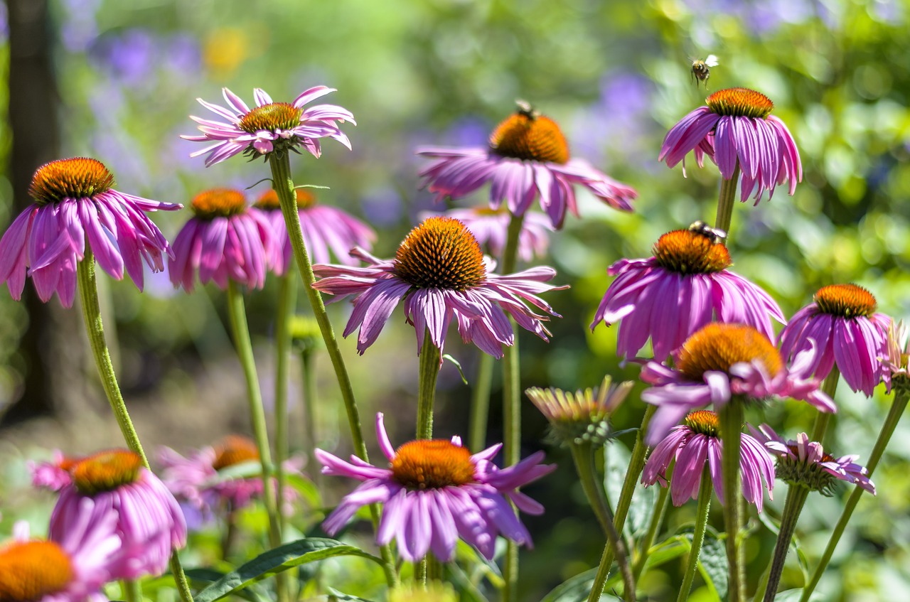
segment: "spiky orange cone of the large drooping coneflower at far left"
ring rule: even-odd
[[[28,194],[38,205],[46,205],[65,198],[91,198],[113,187],[114,176],[103,163],[77,156],[38,167]]]

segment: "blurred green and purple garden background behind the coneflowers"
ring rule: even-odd
[[[220,102],[227,86],[250,100],[262,87],[291,100],[312,85],[338,92],[348,108],[353,151],[326,143],[319,160],[294,157],[298,183],[328,186],[321,202],[341,206],[379,231],[376,255],[389,256],[433,208],[417,176],[426,165],[421,144],[485,145],[490,130],[514,107],[531,101],[563,128],[574,156],[638,189],[636,211],[624,215],[580,193],[581,219],[569,217],[551,236],[558,282],[571,288],[549,296],[563,316],[551,324],[551,343],[522,337],[522,385],[595,386],[604,374],[637,378],[620,366],[615,328],[591,317],[609,282],[606,269],[621,257],[648,256],[663,232],[696,219],[713,221],[718,174],[693,162],[688,178],[656,157],[662,136],[703,104],[704,87],[690,75],[693,58],[719,57],[710,90],[743,85],[774,102],[801,152],[804,180],[793,197],[778,189],[758,206],[733,214],[734,271],[765,287],[792,314],[819,286],[854,282],[877,296],[885,313],[910,310],[910,3],[905,0],[7,0],[0,14],[0,227],[30,201],[35,168],[63,156],[94,156],[112,170],[119,189],[187,203],[204,188],[236,186],[256,196],[268,184],[261,162],[235,158],[205,168],[189,153],[201,146],[187,115],[208,116],[197,97]],[[259,182],[259,183],[258,183]],[[257,184],[258,183],[258,184]],[[483,204],[486,189],[459,206]],[[157,214],[173,238],[187,212]],[[108,336],[116,337],[121,385],[147,446],[180,451],[206,445],[228,431],[248,430],[244,389],[215,288],[175,291],[167,275],[148,275],[139,294],[132,283],[103,279]],[[268,392],[275,283],[248,295],[250,324]],[[0,291],[0,531],[15,517],[39,524],[49,497],[28,490],[25,459],[52,448],[79,453],[120,444],[94,367],[84,351],[77,310],[56,298],[41,304],[26,284],[23,302]],[[331,310],[336,330],[347,304]],[[300,313],[306,314],[304,305]],[[526,335],[526,334],[525,334]],[[477,350],[450,336],[467,376]],[[409,438],[416,400],[413,329],[399,313],[379,341],[349,358],[363,416],[386,412],[393,441]],[[349,447],[343,410],[328,368],[319,375],[319,446]],[[292,395],[299,392],[294,374]],[[636,389],[617,414],[618,428],[637,426]],[[501,440],[499,385],[494,385],[490,442]],[[438,436],[465,433],[470,388],[447,364],[440,374]],[[827,442],[834,454],[868,457],[888,403],[841,386],[840,413]],[[299,406],[292,432],[302,434]],[[810,425],[807,406],[782,403],[755,411],[794,436]],[[544,420],[528,404],[527,452],[544,447]],[[371,420],[366,419],[369,425]],[[375,440],[366,429],[369,444]],[[629,445],[623,436],[615,446]],[[305,445],[302,435],[294,445]],[[372,446],[371,449],[375,449]],[[602,542],[589,537],[593,517],[575,483],[567,454],[550,450],[561,470],[529,487],[548,511],[530,517],[536,547],[522,551],[521,599],[540,599],[561,581],[596,566]],[[898,427],[875,475],[878,497],[864,499],[819,591],[830,600],[896,599],[910,591],[910,426]],[[333,483],[337,492],[345,483]],[[784,486],[766,510],[775,519]],[[801,545],[814,567],[842,507],[841,496],[814,498],[800,522]],[[45,513],[42,515],[42,513]],[[672,511],[667,529],[693,518],[693,507]],[[714,517],[720,526],[719,515]],[[755,522],[748,554],[763,567],[773,535]],[[673,599],[680,561],[649,572],[648,599]],[[757,575],[750,577],[752,582]],[[795,559],[784,583],[799,587]],[[696,581],[696,587],[700,582]],[[364,593],[365,592],[354,592]],[[693,600],[710,599],[706,588]]]

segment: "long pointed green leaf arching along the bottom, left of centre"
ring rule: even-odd
[[[298,541],[268,550],[253,558],[203,589],[194,599],[196,602],[214,602],[238,589],[247,587],[262,577],[268,577],[304,563],[337,556],[358,556],[369,558],[377,564],[382,563],[378,557],[367,554],[359,547],[349,546],[335,539],[322,537],[298,539]]]

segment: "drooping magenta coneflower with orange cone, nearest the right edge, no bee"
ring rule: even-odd
[[[781,332],[781,354],[790,358],[815,341],[819,353],[809,372],[824,379],[835,365],[854,391],[872,396],[883,376],[891,318],[875,313],[875,296],[862,286],[829,285],[800,309]]]

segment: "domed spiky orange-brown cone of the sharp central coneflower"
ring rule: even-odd
[[[395,274],[418,288],[463,291],[487,277],[477,239],[459,220],[429,217],[395,253]]]

